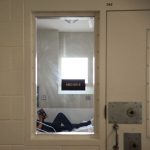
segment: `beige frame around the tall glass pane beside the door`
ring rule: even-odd
[[[74,134],[35,134],[35,122],[32,120],[35,120],[36,118],[36,102],[35,102],[35,98],[36,98],[36,62],[35,62],[35,58],[36,58],[36,18],[47,18],[47,17],[66,17],[66,16],[71,16],[71,17],[94,17],[95,18],[95,26],[94,26],[94,54],[95,54],[95,86],[94,86],[94,134],[80,134],[80,135],[74,135]],[[31,88],[31,118],[30,118],[30,137],[33,141],[38,142],[39,140],[42,140],[44,143],[49,143],[52,145],[55,145],[56,143],[62,143],[66,145],[69,145],[71,141],[71,143],[73,142],[74,144],[80,144],[82,145],[84,142],[88,142],[89,144],[98,144],[99,142],[99,122],[100,122],[100,118],[99,116],[99,96],[98,96],[98,91],[99,91],[99,81],[98,81],[98,77],[99,77],[99,67],[98,67],[98,57],[99,57],[99,46],[98,46],[98,41],[99,41],[99,33],[98,33],[98,27],[99,27],[99,12],[34,12],[32,13],[32,17],[31,17],[31,22],[32,22],[32,29],[31,29],[31,34],[32,34],[32,53],[31,53],[31,60],[32,60],[32,65],[31,65],[31,83],[32,84],[32,88]],[[72,136],[73,135],[73,136]]]

